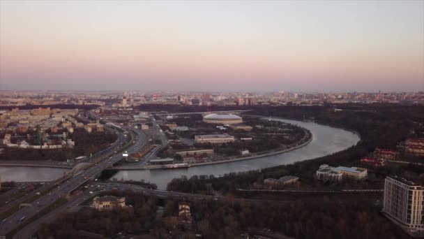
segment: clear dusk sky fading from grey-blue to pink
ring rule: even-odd
[[[0,1],[0,90],[424,91],[424,1]]]

